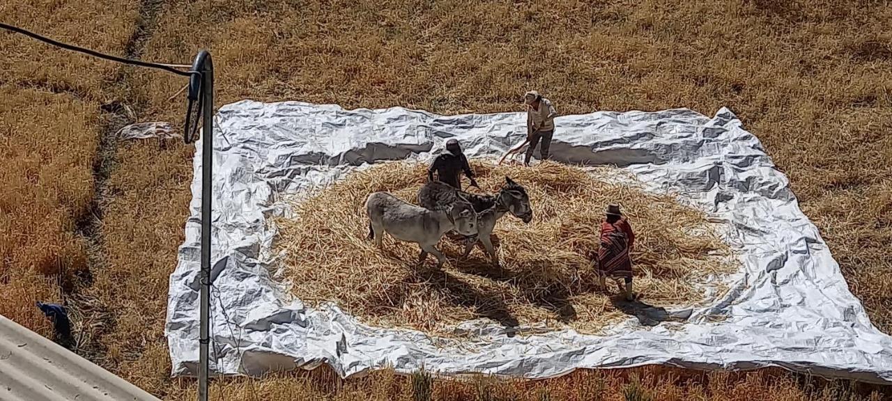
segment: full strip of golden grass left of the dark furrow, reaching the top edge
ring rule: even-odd
[[[111,5],[114,6],[111,6]],[[122,53],[135,2],[3,2],[0,19]],[[115,67],[0,32],[0,315],[47,334],[35,301],[58,302],[87,270],[104,75]],[[79,272],[79,273],[78,273]]]

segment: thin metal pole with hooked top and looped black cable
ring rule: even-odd
[[[211,53],[202,50],[195,56],[192,71],[199,74],[189,78],[188,111],[186,114],[186,142],[190,133],[189,119],[192,105],[198,101],[198,111],[202,114],[202,271],[200,291],[200,331],[198,362],[198,401],[208,400],[208,323],[211,312],[211,167],[213,163],[214,130],[214,67]]]

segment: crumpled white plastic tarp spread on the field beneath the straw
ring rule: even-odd
[[[440,339],[370,327],[290,294],[273,249],[273,217],[292,213],[285,199],[368,163],[430,160],[452,137],[470,158],[498,157],[524,138],[524,123],[523,113],[447,117],[303,102],[221,108],[213,135],[211,371],[255,375],[329,364],[346,377],[424,365],[449,375],[547,378],[577,368],[671,364],[892,381],[892,338],[871,325],[787,178],[727,109],[711,119],[686,109],[562,116],[551,146],[554,160],[615,165],[650,191],[678,192],[724,227],[740,271],[727,278],[731,291],[688,311],[686,323],[648,326],[631,317],[599,336],[511,336],[480,320],[461,326],[474,333],[467,339]],[[170,275],[174,375],[197,372],[200,142],[196,149],[191,217]]]

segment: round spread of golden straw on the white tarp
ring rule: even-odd
[[[384,250],[377,250],[367,241],[368,193],[392,192],[416,203],[425,182],[425,166],[389,162],[294,201],[296,218],[279,221],[278,247],[286,252],[294,293],[310,304],[333,301],[366,323],[440,335],[480,317],[508,326],[566,324],[597,332],[624,317],[616,307],[615,283],[608,281],[609,293],[600,291],[586,257],[598,250],[599,223],[611,202],[622,205],[635,230],[634,291],[649,305],[702,301],[706,285],[721,286],[706,279],[734,267],[728,246],[697,210],[634,184],[608,184],[617,176],[631,179],[622,170],[550,162],[534,168],[493,167],[489,161],[472,166],[483,191],[497,192],[510,176],[530,195],[531,224],[507,215],[496,226],[500,267],[491,265],[479,245],[459,260],[462,245],[448,238],[439,245],[450,258],[442,270],[433,257],[417,266],[416,244],[385,236]]]

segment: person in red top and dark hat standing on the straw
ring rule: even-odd
[[[607,217],[601,223],[601,247],[595,269],[598,272],[601,290],[607,291],[605,279],[614,278],[625,299],[632,300],[632,258],[629,253],[635,243],[632,226],[623,217],[619,205],[607,207]],[[625,286],[620,282],[625,281]]]

